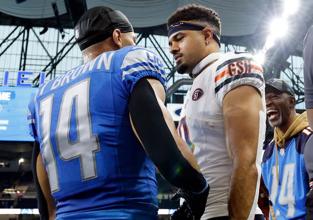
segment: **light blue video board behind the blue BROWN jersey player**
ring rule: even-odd
[[[27,109],[36,90],[0,86],[0,141],[34,141],[29,134]]]

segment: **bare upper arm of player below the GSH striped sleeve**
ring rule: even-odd
[[[265,123],[265,118],[261,118],[264,109],[259,91],[251,86],[234,88],[225,95],[222,104],[228,153],[231,157],[236,154],[255,161],[260,123]]]

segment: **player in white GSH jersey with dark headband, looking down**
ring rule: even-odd
[[[221,22],[210,8],[179,8],[167,27],[177,71],[194,79],[178,132],[210,185],[201,220],[252,220],[266,129],[263,69],[248,52],[220,53]],[[182,219],[185,207],[172,220]]]

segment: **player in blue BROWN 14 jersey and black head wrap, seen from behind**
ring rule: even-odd
[[[28,107],[42,218],[156,220],[156,165],[200,220],[209,186],[164,106],[160,59],[108,7],[89,9],[75,39],[84,64],[43,84]]]

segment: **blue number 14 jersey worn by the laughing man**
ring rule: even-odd
[[[306,194],[310,188],[303,152],[311,134],[312,130],[304,129],[287,141],[283,148],[277,146],[277,151],[275,141],[272,141],[263,155],[262,175],[277,220],[305,219]],[[279,185],[276,178],[275,153]]]

